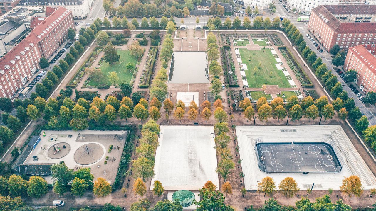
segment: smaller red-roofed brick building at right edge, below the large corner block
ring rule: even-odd
[[[376,92],[376,57],[363,45],[349,48],[344,69],[354,69],[358,72],[356,83],[364,93]]]

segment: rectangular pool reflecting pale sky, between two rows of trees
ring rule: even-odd
[[[175,51],[168,83],[209,83],[205,51]]]

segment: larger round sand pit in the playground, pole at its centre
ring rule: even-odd
[[[81,165],[97,162],[104,154],[102,146],[96,143],[88,143],[74,152],[74,160]]]

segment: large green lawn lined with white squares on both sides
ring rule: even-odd
[[[239,48],[241,61],[247,64],[248,70],[246,70],[246,77],[249,87],[260,88],[262,85],[278,85],[279,87],[291,87],[286,76],[282,70],[278,70],[276,67],[276,59],[271,54],[270,49],[260,51],[249,51],[244,48]],[[261,62],[261,69],[255,72],[253,68],[259,67]],[[270,77],[270,72],[273,71]]]

